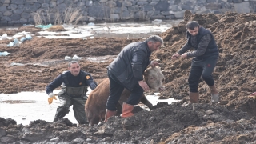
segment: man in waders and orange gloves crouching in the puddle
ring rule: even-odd
[[[51,104],[56,99],[53,90],[62,85],[62,90],[58,93],[61,106],[58,106],[54,122],[63,118],[70,111],[73,105],[74,117],[79,124],[86,124],[85,103],[87,100],[87,87],[91,90],[97,87],[96,82],[89,73],[80,70],[78,62],[71,61],[68,64],[68,70],[58,75],[53,82],[46,86],[46,93],[49,95],[48,102]]]

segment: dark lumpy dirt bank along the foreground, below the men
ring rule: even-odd
[[[224,106],[202,103],[192,110],[190,105],[158,103],[152,111],[139,111],[132,118],[113,117],[98,126],[76,126],[66,118],[27,126],[0,119],[0,131],[6,130],[2,142],[16,143],[234,143],[256,141],[255,123],[242,110]]]

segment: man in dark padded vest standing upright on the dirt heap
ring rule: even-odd
[[[182,58],[194,57],[189,76],[190,103],[198,103],[198,83],[201,76],[210,87],[211,102],[217,103],[219,96],[212,78],[212,72],[216,66],[219,53],[214,35],[209,30],[199,26],[198,22],[195,21],[188,22],[186,28],[187,42],[181,50],[178,50],[178,53],[172,56],[172,59],[180,56]],[[190,48],[195,50],[186,53]]]

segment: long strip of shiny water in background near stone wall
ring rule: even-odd
[[[40,36],[46,38],[147,38],[152,34],[161,34],[170,27],[178,25],[182,20],[166,20],[160,24],[151,22],[119,22],[119,23],[95,23],[90,25],[62,25],[66,31],[50,32],[42,30]],[[18,30],[18,28],[7,28],[6,30]],[[21,38],[26,31],[15,34],[8,39]],[[29,33],[27,33],[29,34]],[[33,35],[32,35],[33,38]]]

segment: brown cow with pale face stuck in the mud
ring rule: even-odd
[[[162,91],[164,90],[164,86],[162,86],[162,80],[164,78],[159,67],[148,68],[144,72],[144,81],[148,84],[148,86],[154,91]],[[110,95],[110,81],[106,78],[103,82],[101,82],[96,89],[90,92],[89,98],[86,101],[86,116],[88,118],[88,122],[90,125],[98,124],[100,121],[104,121],[106,114],[106,102],[107,98]],[[130,96],[129,90],[123,90],[121,98],[118,101],[118,114],[122,112],[122,102],[126,102],[127,98]],[[146,99],[146,96],[143,94],[141,98],[141,102],[148,106],[150,110],[153,105]]]

